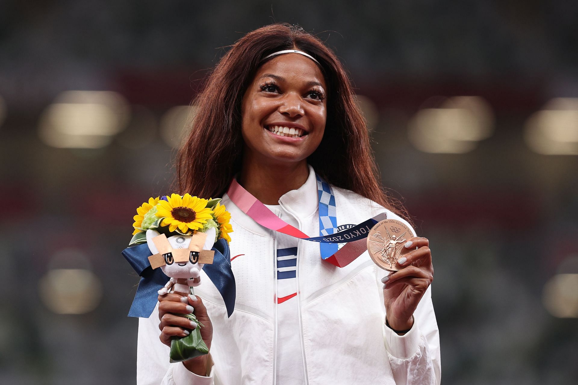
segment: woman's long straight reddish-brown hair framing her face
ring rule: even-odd
[[[401,203],[378,181],[365,119],[355,103],[349,77],[335,54],[321,40],[289,24],[271,24],[239,39],[218,62],[193,104],[191,131],[176,160],[181,194],[220,197],[240,171],[243,139],[241,101],[262,58],[297,49],[320,63],[328,88],[327,121],[317,150],[307,162],[327,182],[347,188],[407,217]]]

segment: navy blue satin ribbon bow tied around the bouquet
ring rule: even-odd
[[[218,292],[223,297],[227,307],[227,315],[231,317],[235,309],[235,276],[231,269],[231,251],[229,244],[223,238],[217,240],[213,249],[215,254],[212,264],[203,265],[203,271],[213,282]],[[149,263],[151,252],[146,243],[128,247],[123,250],[123,256],[141,277],[139,287],[136,290],[135,299],[132,301],[129,317],[148,318],[153,313],[157,304],[158,290],[164,287],[169,277],[160,268],[153,269]]]

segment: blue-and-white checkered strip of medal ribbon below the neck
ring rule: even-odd
[[[337,232],[337,208],[335,207],[335,195],[329,183],[319,175],[317,179],[317,194],[319,196],[319,236],[327,236]],[[320,243],[321,259],[327,260],[337,253],[337,243]]]

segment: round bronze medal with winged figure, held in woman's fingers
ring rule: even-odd
[[[398,271],[405,266],[398,259],[414,249],[403,247],[415,235],[407,225],[395,219],[380,221],[369,230],[367,250],[377,266],[387,271]]]

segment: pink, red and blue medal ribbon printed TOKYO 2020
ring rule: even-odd
[[[335,232],[335,196],[327,182],[318,175],[316,175],[316,179],[319,196],[320,236],[315,237],[310,237],[298,228],[277,217],[275,213],[269,210],[259,199],[245,190],[236,179],[232,180],[227,195],[242,212],[263,227],[294,236],[295,238],[309,240],[310,242],[319,242],[321,259],[338,267],[347,266],[367,250],[365,247],[365,238],[367,238],[369,230],[377,222],[387,219],[387,214],[377,214],[375,217],[365,220],[354,227]],[[320,187],[321,189],[319,189]],[[349,243],[338,250],[338,243],[344,242]]]

